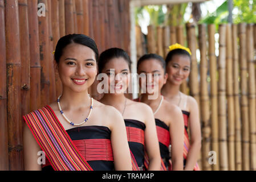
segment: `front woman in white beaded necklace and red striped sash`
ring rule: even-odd
[[[38,152],[43,151],[45,170],[131,170],[122,115],[88,95],[97,75],[94,40],[66,35],[60,38],[54,57],[62,95],[23,116],[25,169],[41,170]]]

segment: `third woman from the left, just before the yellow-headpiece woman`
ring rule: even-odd
[[[182,171],[184,122],[180,108],[161,96],[161,88],[167,79],[165,61],[156,54],[144,55],[137,62],[137,73],[141,76],[140,86],[143,91],[139,101],[148,104],[154,111],[163,168],[171,169],[169,145],[172,144],[172,170]],[[150,98],[153,95],[155,99]]]

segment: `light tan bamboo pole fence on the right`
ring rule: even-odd
[[[148,27],[148,52],[159,48],[159,28]],[[220,24],[217,31],[215,24],[187,23],[165,26],[162,35],[164,50],[168,43],[180,43],[192,52],[189,88],[181,86],[181,91],[200,105],[201,169],[255,170],[256,24]],[[215,152],[216,164],[209,164],[210,151]]]

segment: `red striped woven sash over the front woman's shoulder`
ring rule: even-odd
[[[52,168],[58,171],[92,170],[58,121],[50,106],[23,116]]]

